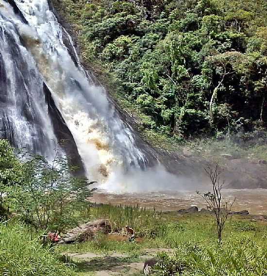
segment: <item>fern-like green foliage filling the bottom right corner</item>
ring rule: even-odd
[[[266,250],[250,239],[232,239],[222,245],[186,243],[178,246],[175,256],[160,255],[154,276],[266,275]],[[182,272],[182,273],[181,273]]]

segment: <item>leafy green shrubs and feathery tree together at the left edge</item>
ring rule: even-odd
[[[76,225],[89,206],[86,178],[71,175],[69,160],[55,151],[53,160],[39,155],[15,155],[8,141],[0,140],[0,217],[15,211],[36,230]],[[79,215],[78,215],[79,214]]]

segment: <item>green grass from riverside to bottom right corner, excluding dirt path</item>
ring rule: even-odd
[[[180,266],[191,263],[190,269],[186,268],[182,275],[266,275],[267,273],[265,265],[267,224],[263,222],[254,222],[246,217],[231,217],[225,226],[223,242],[219,245],[216,224],[210,214],[179,215],[177,212],[157,213],[137,207],[124,209],[109,205],[91,209],[92,219],[98,218],[99,215],[111,220],[114,232],[119,232],[125,225],[124,222],[131,225],[137,230],[139,239],[136,242],[129,242],[119,239],[119,235],[117,239],[114,239],[114,235],[100,235],[90,242],[58,246],[56,251],[61,254],[94,252],[104,256],[110,256],[116,252],[122,254],[122,257],[117,259],[117,265],[121,265],[141,261],[140,256],[145,250],[159,249],[161,251],[162,249],[164,251],[170,248],[174,249],[174,256],[167,257],[166,254],[159,254],[162,263],[154,275],[178,275],[171,274],[168,270],[168,264],[175,267],[177,263]],[[127,257],[123,257],[123,254],[127,254]],[[225,266],[222,260],[232,263],[230,274],[216,274],[221,270],[219,267]],[[79,269],[77,273],[87,275],[83,273],[90,270],[97,271],[103,268],[103,263],[105,263],[104,259],[99,258],[95,258],[94,265],[89,262],[86,266],[82,262],[83,269]],[[252,268],[246,271],[248,263]],[[78,261],[77,267],[81,267],[79,264],[81,263]],[[195,267],[194,271],[192,266]],[[214,274],[205,273],[205,270],[210,270],[211,266],[215,270]],[[250,274],[251,269],[258,269],[259,272]],[[243,271],[243,274],[239,274],[240,271]],[[191,274],[188,274],[189,272]]]

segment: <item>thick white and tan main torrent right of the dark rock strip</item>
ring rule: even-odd
[[[12,28],[16,29],[14,32],[18,32],[22,37],[26,48],[19,45],[18,35],[16,44],[22,49],[20,51],[24,51],[27,66],[31,65],[36,76],[38,75],[36,82],[31,84],[35,88],[29,89],[29,97],[40,113],[41,128],[48,137],[46,140],[54,137],[47,108],[43,104],[44,95],[40,95],[38,90],[43,80],[75,139],[89,179],[98,180],[100,183],[113,183],[116,175],[121,175],[125,168],[139,168],[140,164],[146,164],[146,157],[136,147],[131,129],[120,120],[104,89],[94,85],[86,77],[79,62],[76,66],[71,59],[63,42],[63,32],[66,31],[50,11],[47,0],[15,2],[28,24],[15,15],[3,0],[0,0],[0,24],[5,25],[4,29],[8,32],[13,32]],[[3,18],[4,14],[8,20]],[[70,37],[69,39],[72,43]],[[17,99],[17,96],[14,96],[14,99]],[[16,103],[14,106],[16,110]],[[17,124],[20,121],[21,118],[14,118]],[[24,126],[21,128],[25,129]],[[29,139],[34,137],[34,131],[38,131],[31,132],[30,129],[31,125],[27,129]],[[21,131],[15,129],[14,132],[24,140]],[[38,137],[38,134],[35,136]],[[17,145],[21,147],[25,143]],[[51,148],[50,145],[43,146]]]

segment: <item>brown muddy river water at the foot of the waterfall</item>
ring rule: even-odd
[[[200,190],[201,192],[201,190]],[[227,201],[233,201],[234,211],[247,209],[250,214],[267,215],[267,189],[222,190]],[[191,206],[206,208],[205,201],[195,190],[166,191],[150,193],[108,193],[98,190],[92,202],[112,205],[138,205],[162,211],[174,211]]]

